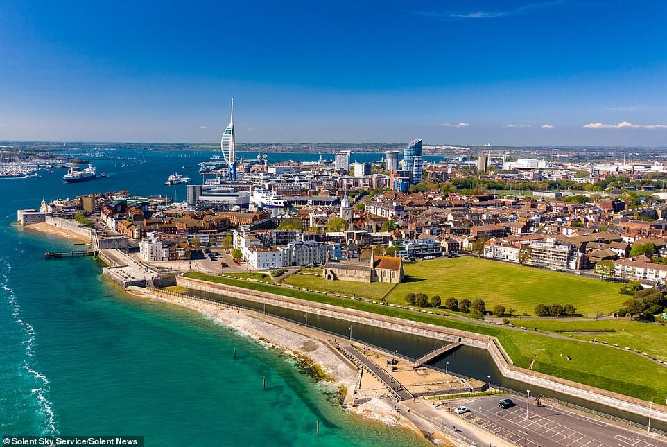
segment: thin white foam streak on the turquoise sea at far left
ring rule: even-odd
[[[14,317],[15,322],[19,324],[24,333],[24,339],[21,340],[21,344],[24,344],[24,351],[26,353],[23,368],[42,385],[31,389],[31,394],[36,396],[37,404],[40,406],[40,413],[44,416],[44,431],[48,435],[57,435],[58,428],[56,428],[55,424],[53,403],[51,403],[48,398],[49,393],[51,392],[49,379],[46,378],[43,373],[35,369],[37,367],[37,361],[35,360],[35,336],[37,335],[37,331],[35,331],[35,328],[21,316],[21,307],[16,299],[14,290],[9,287],[9,272],[12,268],[10,261],[7,259],[0,259],[0,265],[3,265],[4,267],[2,269],[2,289],[6,292],[7,304],[12,310],[12,317]]]

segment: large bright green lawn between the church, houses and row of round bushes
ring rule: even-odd
[[[487,310],[502,304],[515,315],[532,315],[540,303],[573,304],[578,313],[593,315],[611,313],[627,299],[616,283],[471,256],[407,263],[405,273],[387,301],[403,304],[408,292],[424,292],[440,295],[443,303],[448,297],[483,299]]]

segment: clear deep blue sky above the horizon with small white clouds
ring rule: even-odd
[[[0,1],[0,140],[667,146],[667,2]]]

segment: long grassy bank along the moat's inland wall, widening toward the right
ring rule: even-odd
[[[505,351],[508,352],[514,361],[514,365],[518,367],[528,368],[532,359],[537,356],[533,367],[534,371],[607,389],[619,394],[641,398],[646,401],[661,401],[664,398],[664,390],[667,389],[667,368],[662,365],[657,365],[642,356],[637,356],[635,353],[625,351],[624,349],[617,349],[600,343],[581,342],[577,340],[577,338],[582,338],[580,335],[575,336],[573,334],[572,338],[554,338],[544,333],[546,330],[556,331],[560,328],[558,324],[569,324],[569,322],[553,322],[551,320],[539,319],[518,320],[517,324],[525,325],[525,322],[530,321],[530,327],[537,327],[539,329],[539,331],[522,331],[520,329],[497,326],[496,324],[476,323],[460,317],[442,317],[439,315],[417,313],[386,305],[332,297],[331,295],[305,292],[304,290],[281,288],[265,283],[216,277],[197,272],[189,272],[186,276],[239,286],[250,290],[260,290],[306,299],[308,301],[317,301],[333,306],[343,306],[391,317],[456,328],[462,331],[493,335],[503,344]],[[318,288],[318,290],[322,290],[322,288]],[[582,324],[584,323],[586,322],[582,322]],[[597,323],[603,324],[605,322]],[[627,340],[634,340],[635,338],[639,340],[639,338],[643,338],[642,344],[646,344],[646,346],[654,345],[654,349],[651,352],[655,357],[661,359],[667,358],[667,346],[664,344],[665,335],[667,335],[665,326],[647,325],[639,322],[627,323],[627,326],[625,326],[623,322],[616,322],[618,328],[625,329],[625,331],[621,332],[627,333],[627,335],[623,335],[628,338]],[[608,322],[608,324],[611,325],[612,322]],[[650,329],[647,330],[649,327]],[[579,330],[582,331],[584,329]],[[598,340],[603,338],[601,335],[596,336]],[[605,334],[605,339],[606,337],[607,334]],[[591,338],[591,335],[586,334],[583,338],[588,340]],[[612,343],[611,339],[609,339],[609,343]],[[635,342],[633,345],[636,349],[640,349],[638,343]],[[623,346],[623,344],[621,345]],[[572,360],[567,360],[566,356],[570,356]]]

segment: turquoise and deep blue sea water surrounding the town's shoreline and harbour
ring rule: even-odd
[[[141,435],[146,446],[428,445],[346,414],[291,361],[229,328],[125,295],[92,258],[45,261],[46,250],[72,249],[72,241],[15,222],[17,209],[42,198],[128,189],[183,200],[185,186],[164,186],[166,178],[198,182],[197,165],[211,155],[105,150],[85,156],[106,178],[64,184],[65,170],[55,169],[0,180],[0,435]]]

